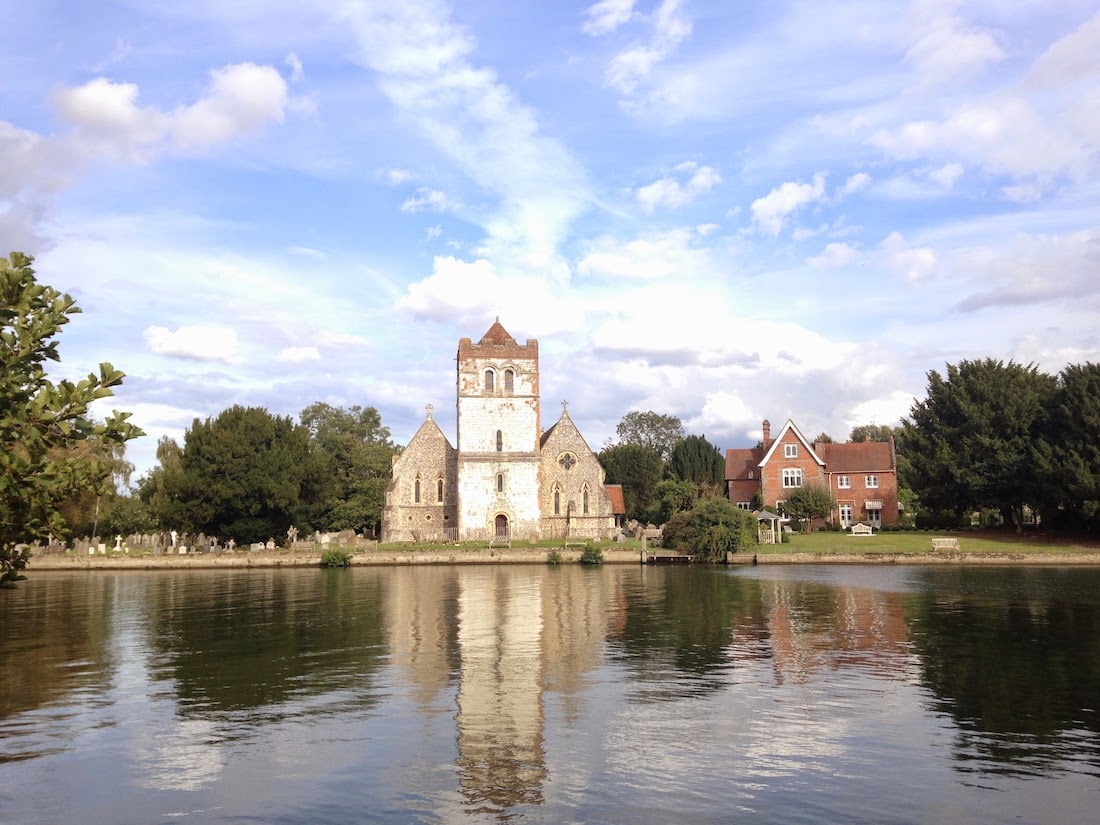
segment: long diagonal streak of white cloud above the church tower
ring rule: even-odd
[[[493,69],[473,64],[476,42],[443,3],[344,10],[358,59],[381,75],[378,88],[399,116],[469,177],[486,205],[469,216],[487,233],[480,253],[503,265],[563,271],[558,246],[591,195],[584,169],[543,133],[538,112]]]

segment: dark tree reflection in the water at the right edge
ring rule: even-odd
[[[1044,582],[1072,575],[1042,574]],[[1027,571],[959,571],[952,579],[912,597],[909,615],[923,682],[959,725],[960,768],[1041,773],[1070,759],[1096,773],[1096,595],[1067,594],[1068,580],[1065,588],[1040,586]]]

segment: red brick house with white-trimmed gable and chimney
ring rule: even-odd
[[[765,507],[781,510],[792,492],[812,483],[825,485],[836,501],[829,521],[843,527],[898,524],[893,441],[811,443],[790,419],[772,439],[766,420],[760,447],[726,450],[726,490],[730,503],[743,509],[750,509],[759,493]]]

